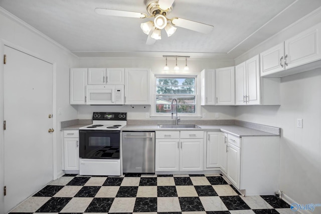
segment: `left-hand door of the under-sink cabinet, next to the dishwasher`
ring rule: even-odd
[[[155,171],[179,171],[179,161],[179,139],[155,140]]]

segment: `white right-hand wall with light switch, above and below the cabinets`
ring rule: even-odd
[[[321,20],[320,9],[236,59],[236,65]],[[290,201],[319,203],[321,199],[321,69],[281,78],[280,106],[238,106],[235,117],[282,129],[280,186]],[[303,119],[303,128],[296,119]],[[272,158],[272,157],[271,157]],[[314,212],[321,213],[321,207]]]

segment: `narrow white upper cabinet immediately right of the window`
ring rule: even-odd
[[[215,69],[201,72],[201,105],[215,105]]]

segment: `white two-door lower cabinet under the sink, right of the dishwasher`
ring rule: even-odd
[[[156,131],[155,171],[202,171],[203,131]]]

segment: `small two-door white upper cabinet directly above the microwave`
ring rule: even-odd
[[[123,85],[123,68],[89,68],[88,85]]]

